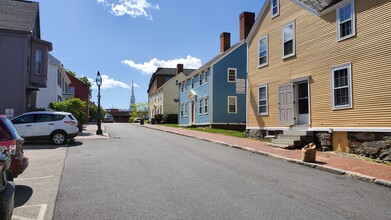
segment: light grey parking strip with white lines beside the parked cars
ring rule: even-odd
[[[15,209],[12,219],[52,219],[67,146],[49,143],[24,145],[30,158],[25,172],[15,178]]]

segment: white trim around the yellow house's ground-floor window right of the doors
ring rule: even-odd
[[[348,92],[349,92],[349,104],[335,106],[335,97],[334,97],[334,72],[341,69],[348,70]],[[352,93],[352,64],[346,63],[339,66],[331,67],[331,98],[332,98],[332,110],[340,110],[340,109],[351,109],[353,108],[353,93]]]

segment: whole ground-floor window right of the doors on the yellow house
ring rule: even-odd
[[[352,78],[351,64],[331,68],[333,109],[351,108]]]

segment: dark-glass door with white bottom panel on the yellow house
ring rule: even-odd
[[[297,124],[309,124],[309,96],[308,96],[308,81],[296,83],[296,97],[297,97]]]

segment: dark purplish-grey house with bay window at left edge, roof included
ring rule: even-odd
[[[37,2],[0,1],[0,114],[35,110],[37,91],[46,87],[52,44],[40,29]]]

